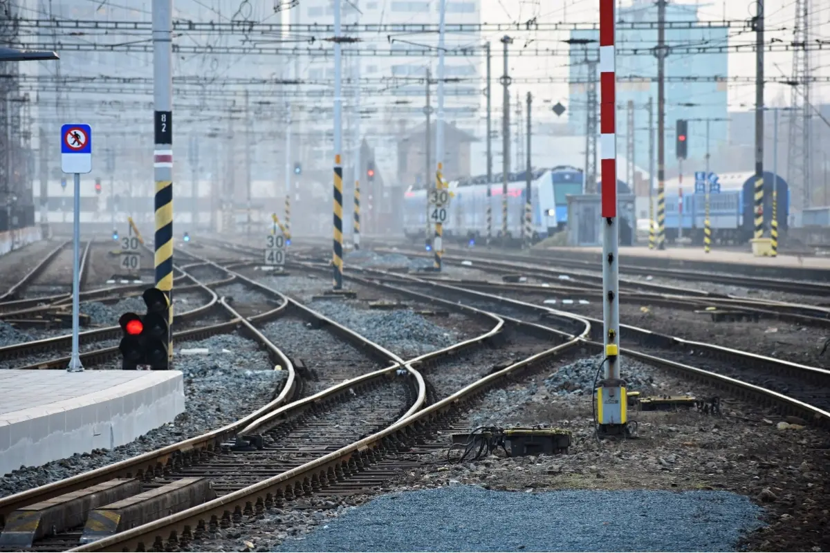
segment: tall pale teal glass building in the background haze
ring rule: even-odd
[[[696,22],[698,7],[689,4],[670,3],[666,6],[667,22]],[[623,22],[657,22],[657,5],[652,0],[634,0],[632,5],[620,7],[618,19]],[[574,31],[573,39],[588,39],[593,42],[584,46],[571,45],[569,76],[572,81],[585,81],[589,60],[598,60],[598,31]],[[666,46],[711,44],[726,45],[729,29],[706,27],[695,29],[666,29]],[[634,102],[634,159],[637,167],[648,167],[648,111],[649,98],[654,106],[654,127],[657,128],[657,58],[652,49],[657,45],[657,28],[629,30],[618,27],[615,42],[618,49],[640,50],[636,56],[617,55],[617,153],[626,153],[626,140],[630,132],[627,125],[627,103]],[[666,77],[712,77],[728,75],[726,53],[703,53],[695,55],[669,54],[666,58]],[[598,65],[596,65],[598,71]],[[624,78],[642,78],[624,82]],[[596,79],[599,75],[595,76]],[[597,87],[599,88],[599,87]],[[582,82],[572,83],[569,91],[569,105],[566,112],[574,134],[585,134],[587,86]],[[597,90],[597,99],[600,95]],[[687,104],[687,105],[683,105]],[[675,156],[676,121],[691,119],[689,122],[688,160],[683,163],[683,173],[693,174],[701,170],[706,156],[706,123],[694,119],[726,119],[727,87],[725,82],[666,82],[666,174],[677,174]],[[597,105],[597,109],[598,105]],[[719,151],[728,142],[727,122],[710,122],[711,153]],[[599,132],[599,131],[597,131]],[[654,140],[657,148],[657,137]],[[599,152],[598,152],[599,154]],[[622,179],[624,174],[619,174]]]

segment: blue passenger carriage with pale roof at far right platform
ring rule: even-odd
[[[718,177],[720,193],[709,196],[712,239],[721,244],[745,243],[754,236],[754,172],[725,173]],[[769,221],[772,220],[773,183],[773,173],[764,172],[764,228],[769,228]],[[777,220],[779,232],[784,233],[789,227],[789,186],[780,175],[777,184]],[[680,182],[672,179],[666,182],[665,189],[666,240],[675,240],[682,229],[684,237],[691,237],[693,242],[702,244],[706,216],[705,194],[695,194],[693,179],[691,182],[683,182],[681,214],[678,211]],[[657,214],[657,192],[653,194],[652,201]]]

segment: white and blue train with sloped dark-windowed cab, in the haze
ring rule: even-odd
[[[512,173],[507,185],[507,238],[520,240],[525,216],[525,173]],[[531,220],[533,240],[543,240],[557,229],[554,205],[554,186],[547,169],[534,172],[531,189]],[[447,240],[486,239],[487,202],[492,210],[492,236],[500,239],[502,233],[502,184],[500,176],[486,183],[486,177],[449,182],[452,198],[447,206],[447,221],[443,223]],[[488,195],[488,188],[490,193]],[[427,191],[410,187],[403,197],[403,229],[412,239],[423,238],[427,227]]]

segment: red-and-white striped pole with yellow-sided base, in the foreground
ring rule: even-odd
[[[603,226],[603,381],[597,397],[600,434],[626,432],[625,382],[619,371],[619,260],[617,225],[617,75],[614,62],[614,1],[599,0],[599,143]]]

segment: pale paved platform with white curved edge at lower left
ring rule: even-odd
[[[113,449],[184,410],[180,371],[0,371],[0,474]]]

